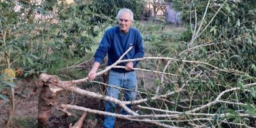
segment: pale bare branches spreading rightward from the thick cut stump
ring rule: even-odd
[[[129,51],[129,50],[128,50]],[[127,51],[127,52],[128,52]],[[125,54],[127,53],[125,52]],[[124,54],[124,55],[125,55]],[[231,75],[246,75],[246,73],[241,72],[239,70],[234,69],[227,69],[227,68],[218,68],[214,65],[211,65],[206,62],[202,61],[189,61],[189,60],[177,60],[174,58],[161,58],[161,57],[145,57],[145,58],[138,58],[138,59],[132,59],[132,60],[120,60],[116,61],[113,65],[105,68],[101,72],[97,73],[97,76],[100,74],[104,74],[104,72],[108,72],[111,68],[123,68],[123,67],[117,67],[115,66],[118,63],[122,63],[125,61],[138,61],[138,60],[169,60],[166,67],[170,65],[170,63],[179,63],[179,65],[189,65],[189,67],[193,67],[194,69],[198,67],[205,67],[209,68],[209,71],[211,72],[218,72],[219,74],[221,72],[225,74],[231,74]],[[192,69],[193,69],[192,68]],[[240,87],[227,87],[225,90],[220,90],[220,92],[216,93],[216,88],[224,88],[225,86],[221,86],[221,84],[216,84],[216,86],[209,86],[209,88],[212,88],[212,90],[204,91],[207,86],[202,86],[200,84],[204,84],[206,82],[206,79],[202,79],[202,77],[205,77],[203,73],[197,73],[198,75],[194,75],[195,71],[190,72],[190,76],[193,76],[194,81],[197,81],[198,84],[191,84],[191,81],[182,81],[180,77],[182,76],[182,72],[180,74],[168,74],[165,72],[159,72],[159,71],[152,71],[152,70],[146,70],[141,68],[134,68],[134,70],[142,70],[142,71],[148,71],[148,72],[156,72],[157,74],[163,74],[163,77],[165,81],[161,81],[161,86],[159,88],[162,88],[161,93],[159,92],[159,88],[157,88],[157,91],[155,93],[146,93],[148,95],[145,99],[138,99],[134,101],[122,101],[118,99],[114,99],[113,97],[108,97],[106,95],[101,95],[100,93],[95,92],[89,92],[87,90],[83,90],[77,86],[76,84],[85,82],[88,80],[88,77],[84,79],[78,79],[74,81],[61,81],[57,76],[51,76],[47,74],[41,74],[39,79],[39,85],[42,88],[48,88],[51,95],[49,95],[49,92],[47,93],[48,99],[54,99],[52,97],[56,97],[58,92],[65,89],[70,92],[76,92],[80,95],[86,95],[88,97],[92,97],[95,99],[102,99],[102,100],[108,100],[111,102],[115,102],[118,104],[118,106],[122,107],[125,111],[130,113],[131,115],[120,115],[117,113],[108,113],[105,111],[99,111],[96,109],[90,109],[90,108],[84,108],[81,106],[76,105],[70,105],[70,104],[54,104],[54,100],[42,100],[45,98],[42,98],[40,102],[45,102],[45,104],[52,106],[56,105],[59,109],[64,111],[65,113],[68,113],[68,115],[72,115],[72,113],[69,113],[67,109],[76,109],[79,111],[85,111],[88,113],[95,113],[99,115],[109,115],[109,116],[116,116],[117,118],[124,118],[127,120],[135,120],[135,121],[141,121],[141,122],[149,122],[152,124],[156,124],[162,127],[177,127],[179,126],[179,122],[183,122],[181,126],[184,125],[191,125],[193,127],[198,126],[201,124],[202,126],[205,126],[205,123],[214,122],[217,123],[228,123],[228,124],[235,124],[235,125],[244,125],[241,123],[232,123],[228,122],[227,117],[234,117],[237,116],[239,118],[243,117],[250,117],[250,113],[247,113],[248,111],[232,111],[231,109],[228,109],[228,111],[223,111],[225,108],[228,107],[234,107],[234,106],[245,106],[252,108],[252,104],[246,104],[243,102],[239,102],[239,100],[233,99],[231,97],[234,95],[234,93],[247,93],[251,92],[248,88],[253,87],[256,85],[256,83],[250,83],[250,84],[241,84]],[[200,71],[202,72],[202,70]],[[168,77],[167,77],[168,76]],[[201,77],[198,79],[198,77]],[[168,81],[166,79],[168,78]],[[170,81],[170,79],[176,79],[178,81]],[[192,77],[191,77],[192,79]],[[172,83],[174,88],[166,89],[166,84]],[[111,86],[111,85],[109,85]],[[197,86],[196,88],[194,86]],[[202,87],[200,87],[202,86]],[[191,90],[191,88],[194,88]],[[138,92],[138,93],[145,93],[145,92]],[[229,97],[227,97],[229,96]],[[155,102],[156,104],[153,106],[151,104],[152,102]],[[147,103],[152,106],[140,106],[139,104]],[[127,104],[138,104],[138,108],[149,110],[147,112],[144,112],[145,114],[139,115],[138,113],[132,111],[131,109],[127,108]],[[159,106],[161,104],[161,106]],[[172,104],[172,105],[170,105]],[[196,104],[196,105],[195,105]],[[40,104],[39,104],[40,105]],[[158,108],[156,106],[159,106]],[[173,110],[168,109],[170,106],[173,107]],[[224,107],[225,106],[225,107]],[[45,123],[45,117],[46,122],[49,118],[49,115],[47,116],[41,116],[40,109],[42,107],[39,106],[39,113],[38,113],[38,121]],[[51,108],[50,108],[51,109]],[[47,109],[50,110],[50,109]],[[143,111],[143,110],[142,110]],[[45,113],[42,112],[42,113]],[[50,114],[50,113],[49,113]],[[241,118],[241,120],[243,120]],[[44,120],[43,120],[44,119]],[[40,121],[43,120],[43,121]]]

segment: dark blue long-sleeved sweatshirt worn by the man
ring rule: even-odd
[[[142,37],[137,29],[129,28],[128,33],[121,33],[118,26],[108,29],[100,45],[95,52],[94,61],[100,64],[104,60],[106,54],[108,54],[108,66],[115,63],[124,54],[130,46],[133,46],[122,60],[142,58],[144,55]],[[126,63],[120,63],[118,65],[125,66]],[[134,67],[138,64],[138,61],[133,61]],[[112,68],[116,72],[125,73],[129,72],[123,68]]]

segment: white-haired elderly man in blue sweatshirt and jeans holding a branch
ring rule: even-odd
[[[124,8],[118,12],[116,15],[118,20],[118,26],[108,29],[100,45],[94,55],[94,63],[92,70],[89,72],[89,81],[95,79],[96,72],[100,66],[100,63],[104,60],[106,54],[108,54],[108,65],[112,65],[117,61],[122,54],[124,54],[129,47],[133,46],[131,51],[129,51],[125,56],[126,59],[141,58],[144,55],[142,38],[140,32],[131,28],[133,21],[133,13],[131,10]],[[126,88],[125,90],[125,100],[135,100],[137,86],[136,71],[132,68],[136,67],[138,61],[129,61],[127,63],[120,63],[120,66],[125,66],[125,68],[112,68],[109,71],[108,84],[116,87]],[[108,86],[107,95],[118,99],[118,94],[120,90],[118,88],[113,88]],[[131,108],[131,105],[127,106]],[[113,102],[106,102],[106,111],[115,113],[116,104]],[[128,113],[122,110],[122,114],[127,115]],[[114,127],[115,117],[105,116],[103,127]]]

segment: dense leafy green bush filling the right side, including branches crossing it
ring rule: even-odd
[[[159,86],[164,94],[179,90],[178,95],[168,97],[172,104],[159,105],[159,109],[185,111],[184,118],[177,118],[172,125],[253,127],[255,4],[231,0],[173,1],[173,7],[182,13],[187,32],[180,38],[179,47],[175,47],[173,60],[166,65],[165,71],[177,76],[163,77]],[[145,39],[161,44],[161,38]],[[184,124],[179,124],[180,120]]]

